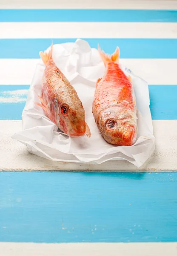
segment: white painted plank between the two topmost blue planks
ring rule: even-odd
[[[177,38],[177,23],[3,22],[0,38]]]

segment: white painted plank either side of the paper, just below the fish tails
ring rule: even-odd
[[[38,62],[39,59],[0,59],[0,84],[31,84]],[[177,84],[177,59],[120,59],[120,63],[148,84]]]

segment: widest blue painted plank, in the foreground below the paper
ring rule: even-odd
[[[177,173],[0,173],[0,241],[174,242],[176,214]]]

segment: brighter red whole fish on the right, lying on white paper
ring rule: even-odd
[[[92,113],[103,138],[112,145],[131,146],[137,139],[137,105],[131,76],[119,66],[120,49],[112,55],[98,46],[105,73],[96,82]]]

